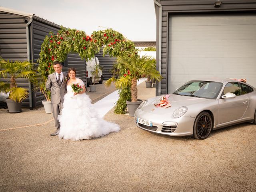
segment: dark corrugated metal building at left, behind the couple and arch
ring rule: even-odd
[[[39,18],[34,14],[24,13],[0,6],[0,55],[5,60],[30,60],[34,63],[39,58],[41,44],[46,35],[52,31],[54,34],[60,26]],[[86,62],[76,53],[68,54],[64,62],[63,71],[74,67],[78,78],[86,83]],[[3,79],[0,79],[3,81]],[[32,92],[28,80],[18,79],[18,86],[30,90],[29,98],[22,102],[22,106],[30,109],[42,105],[44,96],[40,92]]]

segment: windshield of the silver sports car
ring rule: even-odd
[[[173,94],[216,99],[222,85],[220,82],[212,81],[189,81],[178,88]]]

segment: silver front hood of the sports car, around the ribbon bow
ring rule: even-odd
[[[154,106],[155,103],[160,102],[161,97],[162,96],[158,96],[158,97],[149,99],[148,103],[142,107],[142,110],[145,112],[150,112],[150,113],[158,114],[158,115],[172,114],[176,109],[178,109],[182,106],[187,106],[189,109],[189,107],[194,104],[203,103],[206,100],[209,100],[209,99],[205,99],[205,98],[196,98],[196,97],[190,97],[190,96],[181,96],[181,95],[170,94],[170,96],[168,98],[168,100],[171,104],[170,107],[164,108],[164,107]]]

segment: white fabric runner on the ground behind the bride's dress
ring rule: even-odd
[[[140,80],[137,80],[137,85],[144,82],[147,78],[140,78]],[[104,115],[107,114],[114,106],[115,102],[118,100],[118,91],[114,91],[108,96],[104,97],[103,99],[99,100],[98,102],[94,103],[94,107],[96,108],[98,114],[101,118],[104,117]]]

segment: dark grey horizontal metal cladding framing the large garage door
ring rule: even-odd
[[[255,0],[221,0],[222,5],[219,8],[214,7],[216,0],[157,0],[162,5],[162,40],[161,40],[161,58],[158,54],[156,57],[157,66],[159,60],[161,61],[161,72],[165,80],[161,81],[161,94],[167,93],[168,82],[168,17],[172,14],[177,13],[221,13],[221,12],[256,12],[256,1]],[[157,19],[157,52],[158,52],[158,31],[159,31],[159,8],[156,6],[156,19]],[[158,89],[158,85],[157,85]],[[158,95],[158,90],[156,90],[156,95]]]

